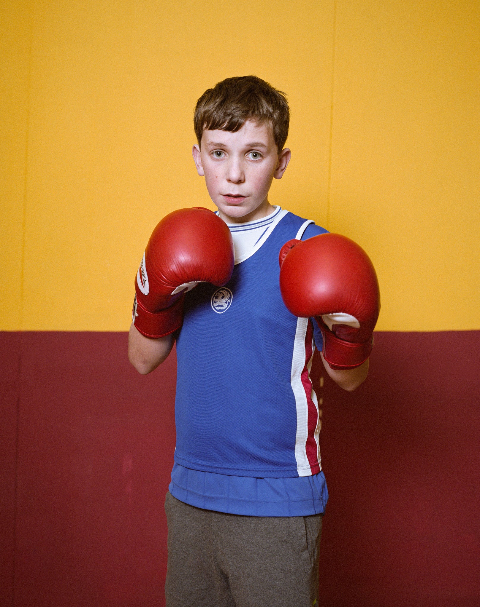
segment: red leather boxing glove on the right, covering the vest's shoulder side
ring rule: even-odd
[[[377,274],[368,255],[340,234],[289,240],[281,248],[280,290],[295,316],[315,316],[323,356],[334,369],[368,358],[380,311]]]

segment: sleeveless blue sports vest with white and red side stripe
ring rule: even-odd
[[[278,280],[279,250],[304,224],[288,212],[227,285],[187,293],[177,337],[180,466],[264,478],[320,471],[313,325],[287,310]]]

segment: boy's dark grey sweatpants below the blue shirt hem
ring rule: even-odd
[[[317,607],[320,514],[245,517],[166,494],[166,607]]]

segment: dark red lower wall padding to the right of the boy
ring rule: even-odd
[[[375,333],[326,382],[321,607],[480,605],[480,331]]]

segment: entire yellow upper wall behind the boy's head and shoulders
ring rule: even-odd
[[[378,328],[480,328],[478,2],[2,7],[1,329],[128,329],[154,225],[213,208],[195,101],[246,73],[292,107],[271,202],[364,246]]]

